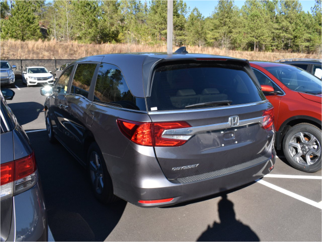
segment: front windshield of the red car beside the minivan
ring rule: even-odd
[[[321,80],[310,73],[295,66],[270,66],[264,67],[287,88],[293,91],[312,94],[321,93]]]

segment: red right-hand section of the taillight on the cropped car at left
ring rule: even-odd
[[[29,176],[36,171],[36,160],[34,153],[14,161],[14,180]]]

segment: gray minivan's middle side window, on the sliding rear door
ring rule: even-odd
[[[92,81],[97,64],[78,64],[74,74],[71,93],[88,97],[90,83]]]

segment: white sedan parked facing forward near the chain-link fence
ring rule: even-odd
[[[54,84],[54,77],[52,76],[51,71],[48,71],[43,66],[26,67],[26,70],[23,72],[22,79],[23,83],[27,86]]]

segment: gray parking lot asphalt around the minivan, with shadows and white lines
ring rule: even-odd
[[[321,241],[321,171],[298,171],[282,152],[270,176],[211,197],[163,208],[100,204],[85,169],[41,131],[41,87],[17,87],[7,103],[35,150],[55,241]]]

